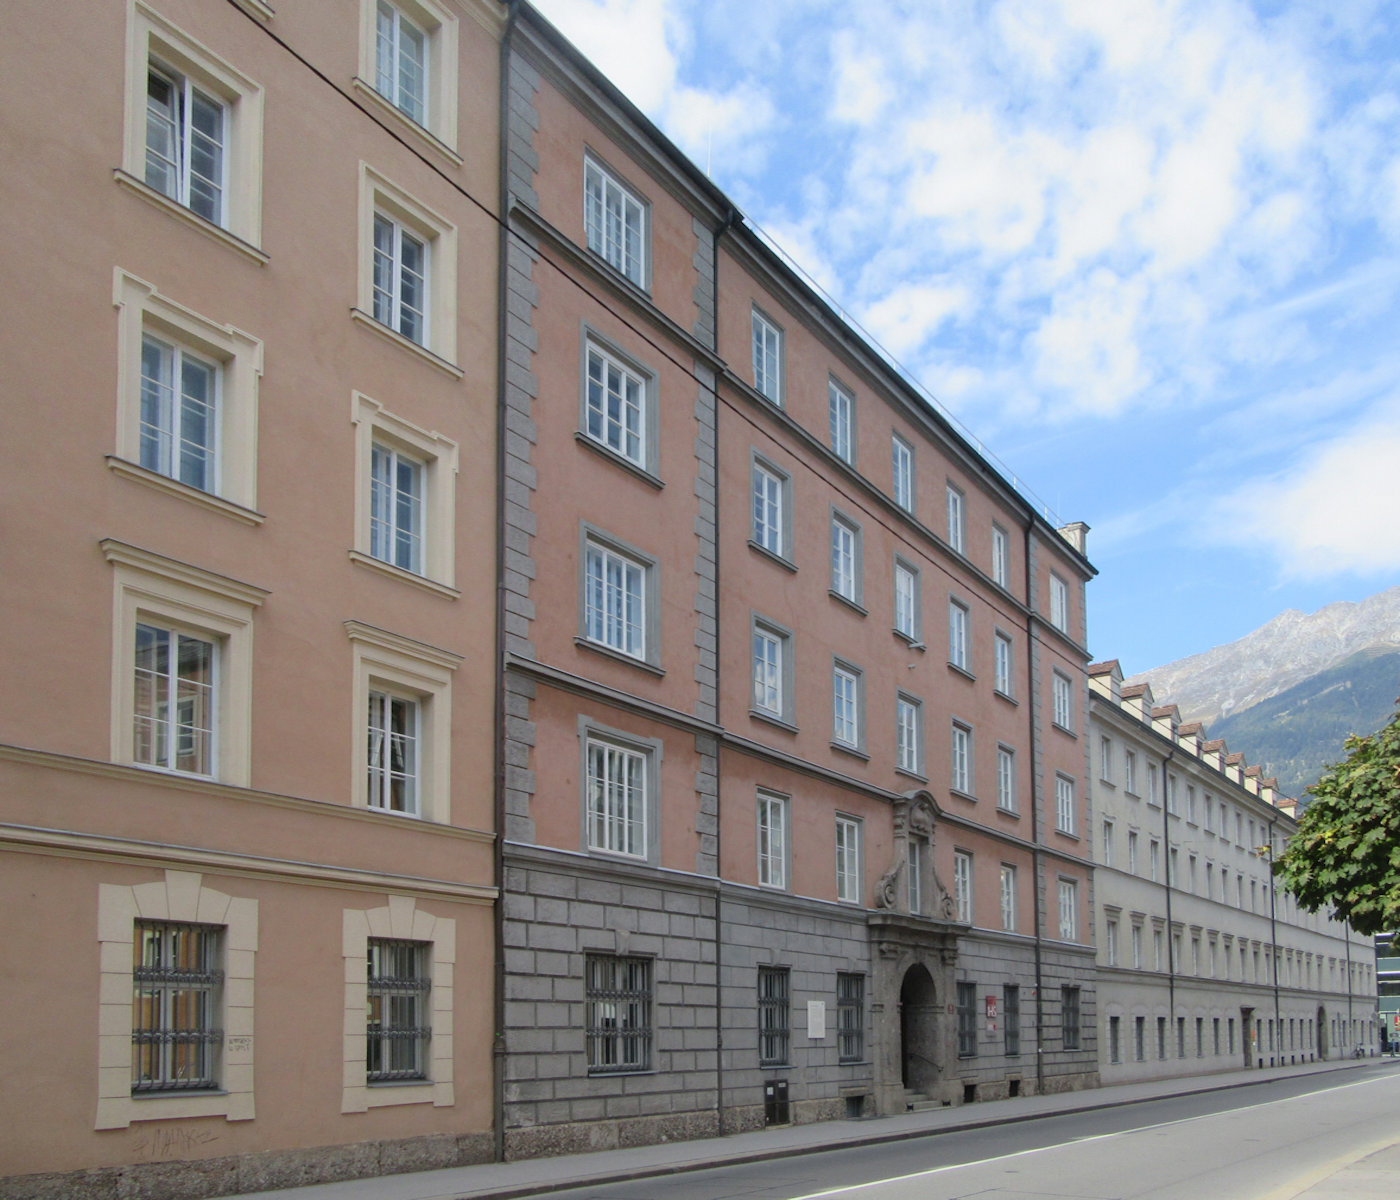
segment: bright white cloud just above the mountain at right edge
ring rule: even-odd
[[[1400,402],[1217,505],[1217,536],[1267,547],[1288,578],[1400,570]]]

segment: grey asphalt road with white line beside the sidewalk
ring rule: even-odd
[[[554,1194],[568,1200],[1285,1200],[1396,1141],[1400,1075],[1378,1068]],[[1393,1182],[1393,1190],[1365,1194],[1400,1197],[1400,1173]]]

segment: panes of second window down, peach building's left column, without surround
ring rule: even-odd
[[[141,466],[202,491],[218,487],[218,367],[141,336]]]

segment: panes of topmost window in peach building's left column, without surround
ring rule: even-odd
[[[182,74],[150,64],[146,182],[193,213],[227,224],[228,111]]]

